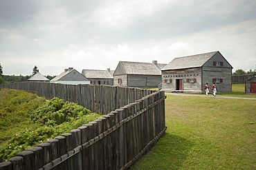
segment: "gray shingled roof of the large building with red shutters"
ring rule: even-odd
[[[169,64],[163,67],[162,70],[178,70],[192,67],[202,67],[209,59],[217,52],[208,52],[204,54],[196,54],[192,56],[182,56],[173,59]]]

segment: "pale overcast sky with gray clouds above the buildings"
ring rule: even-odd
[[[232,72],[253,70],[255,9],[254,0],[0,0],[0,63],[3,74],[36,65],[47,76],[219,51]]]

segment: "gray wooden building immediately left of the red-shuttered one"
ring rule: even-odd
[[[113,85],[155,88],[161,83],[161,69],[166,64],[120,61],[113,73]]]

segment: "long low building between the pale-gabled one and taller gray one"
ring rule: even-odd
[[[89,79],[92,85],[113,85],[114,70],[82,70],[82,74]]]

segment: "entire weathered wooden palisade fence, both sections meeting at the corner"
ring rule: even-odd
[[[165,93],[105,85],[11,83],[0,87],[62,98],[104,115],[21,151],[1,169],[128,169],[165,133]]]

